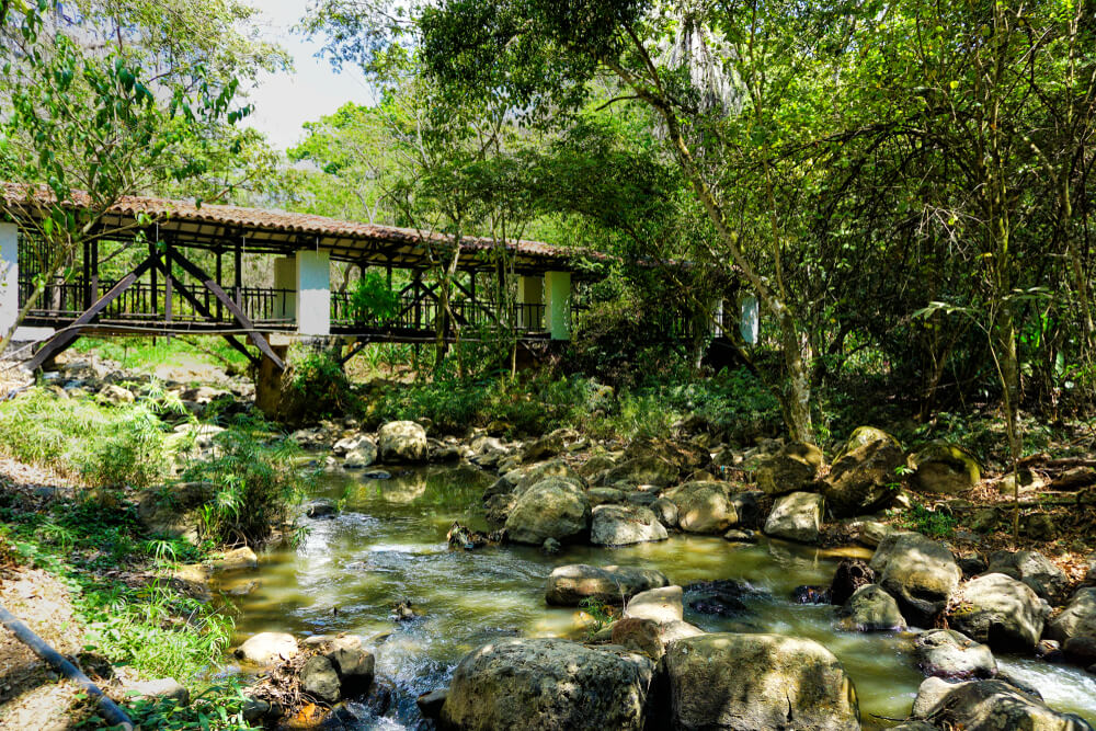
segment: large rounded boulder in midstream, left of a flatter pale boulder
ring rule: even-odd
[[[517,544],[541,545],[584,538],[590,532],[590,500],[566,478],[550,477],[530,487],[506,516],[506,536]]]

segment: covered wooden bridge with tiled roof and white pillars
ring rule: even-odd
[[[45,191],[0,185],[14,219],[0,222],[0,331],[7,332],[43,276],[36,239],[21,232],[36,230],[55,201]],[[46,281],[23,320],[18,339],[43,341],[32,368],[92,332],[221,334],[253,362],[265,356],[278,370],[284,350],[272,347],[275,335],[418,342],[436,336],[439,317],[446,318],[443,336],[453,335],[439,283],[430,276],[458,253],[447,235],[140,196],[123,197],[105,212],[93,213],[83,194],[62,206],[98,219],[65,262],[71,275]],[[256,255],[270,260],[255,269],[265,279],[258,286],[244,281],[244,259]],[[608,259],[536,241],[464,238],[449,310],[460,325],[507,328],[522,340],[567,340],[580,262]],[[117,266],[122,260],[125,271]],[[381,267],[390,286],[392,271],[406,271],[393,288],[395,311],[376,317],[355,308],[351,293],[332,288],[332,262]],[[516,298],[503,294],[507,276],[517,279]],[[237,335],[262,355],[250,354]]]

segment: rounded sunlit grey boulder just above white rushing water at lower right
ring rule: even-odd
[[[1031,587],[1003,573],[987,573],[960,587],[948,614],[951,627],[994,650],[1035,650],[1050,607]]]

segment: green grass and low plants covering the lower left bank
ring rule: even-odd
[[[174,677],[202,695],[186,709],[163,700],[125,704],[141,728],[248,728],[239,687],[206,681],[228,646],[232,618],[162,579],[145,578],[169,569],[171,562],[164,558],[164,541],[142,539],[132,505],[104,504],[85,493],[36,509],[19,493],[2,491],[0,521],[0,552],[68,585],[85,630],[84,652],[147,677]],[[207,548],[174,541],[170,555],[196,561],[205,558]],[[213,722],[203,727],[203,716]],[[102,728],[94,716],[83,723]]]

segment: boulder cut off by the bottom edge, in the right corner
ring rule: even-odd
[[[933,679],[933,678],[929,678]],[[1092,726],[1072,713],[1059,713],[1042,699],[1001,679],[971,681],[956,685],[934,681],[918,690],[914,711],[931,718],[937,728],[963,731],[1092,731]],[[943,685],[941,685],[943,684]]]

